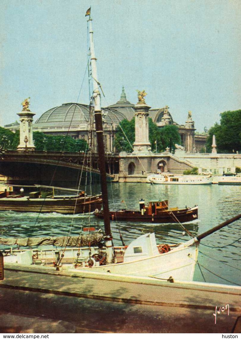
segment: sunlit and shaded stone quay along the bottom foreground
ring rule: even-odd
[[[0,281],[0,329],[6,333],[236,333],[240,294],[239,287],[140,277],[97,279],[81,272],[71,276],[16,267],[5,269]]]

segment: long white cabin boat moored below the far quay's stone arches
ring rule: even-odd
[[[150,174],[147,176],[147,182],[153,184],[170,184],[170,185],[209,185],[212,183],[212,177],[200,175],[175,175],[175,174]]]

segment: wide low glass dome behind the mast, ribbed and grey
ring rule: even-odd
[[[102,108],[103,118],[107,124],[118,124],[125,119],[125,116],[115,109]],[[87,123],[90,120],[90,107],[78,103],[66,103],[61,106],[53,107],[43,113],[35,124],[48,125],[77,125]]]

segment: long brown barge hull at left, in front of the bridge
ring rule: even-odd
[[[89,213],[102,206],[101,195],[79,198],[1,198],[0,211],[79,214]]]

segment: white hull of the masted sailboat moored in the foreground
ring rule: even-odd
[[[109,273],[118,274],[124,276],[137,276],[137,277],[152,277],[156,279],[169,280],[172,277],[174,280],[180,281],[192,281],[195,265],[198,258],[198,243],[188,247],[175,247],[171,251],[163,254],[157,254],[143,259],[131,260],[127,262],[119,262],[107,265],[80,265],[74,268],[74,262],[77,258],[88,261],[90,256],[90,248],[72,248],[64,250],[64,257],[61,261],[63,265],[71,262],[70,266],[66,266],[65,272],[70,270],[71,272],[86,272],[86,273]],[[91,247],[91,255],[98,253],[98,247]],[[126,248],[114,247],[115,251],[124,253]],[[27,251],[14,251],[15,255],[4,256],[4,262],[8,264],[30,265],[30,267],[39,266],[40,270],[44,269],[48,271],[50,264],[53,267],[53,261],[55,261],[56,252],[61,253],[62,249],[59,250],[27,250]],[[68,253],[69,252],[69,253]],[[93,257],[92,257],[93,258]],[[78,260],[79,260],[78,259]],[[32,265],[33,261],[35,265]],[[42,265],[45,266],[42,266]]]

